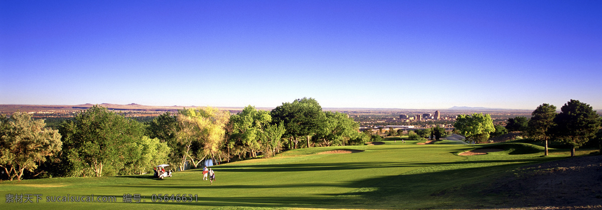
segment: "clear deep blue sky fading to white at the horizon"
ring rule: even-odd
[[[0,104],[602,109],[602,1],[0,1]]]

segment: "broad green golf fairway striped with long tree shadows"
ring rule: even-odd
[[[554,152],[542,157],[531,144],[489,145],[504,152],[458,156],[479,146],[413,144],[385,141],[382,145],[316,147],[291,150],[274,158],[251,159],[211,167],[216,181],[202,181],[200,170],[102,178],[52,178],[1,182],[8,208],[349,208],[433,209],[486,208],[504,197],[482,195],[496,178],[523,165],[568,156]],[[496,146],[497,145],[497,146]],[[357,153],[319,152],[336,149]],[[467,188],[476,189],[466,191]],[[462,193],[456,193],[462,191]],[[33,203],[7,203],[7,195],[30,197]],[[140,202],[124,203],[124,195],[140,195]],[[158,202],[158,195],[174,196]],[[182,201],[181,196],[185,194]],[[34,196],[41,195],[41,196]],[[47,196],[115,197],[115,202],[47,202]],[[155,196],[153,196],[155,195]],[[190,196],[189,196],[190,195]],[[36,203],[37,197],[39,203]],[[52,197],[48,197],[52,199]]]

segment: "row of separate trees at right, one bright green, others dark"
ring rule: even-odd
[[[539,105],[530,119],[514,117],[508,119],[505,127],[494,126],[489,114],[474,113],[472,116],[459,115],[454,127],[467,140],[482,143],[490,135],[501,135],[512,131],[521,131],[533,140],[545,143],[545,155],[548,155],[548,141],[558,141],[571,147],[571,156],[575,149],[588,143],[598,141],[602,153],[602,117],[587,103],[569,100],[556,113],[556,106],[548,103]]]

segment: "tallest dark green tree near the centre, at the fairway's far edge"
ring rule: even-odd
[[[270,115],[273,125],[281,122],[284,124],[286,128],[284,136],[290,138],[295,149],[302,138],[307,140],[307,147],[310,147],[312,135],[317,133],[326,119],[320,104],[311,97],[296,99],[292,103],[282,103],[281,106],[274,108]]]

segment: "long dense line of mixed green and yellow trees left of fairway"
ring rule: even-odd
[[[184,170],[205,159],[229,162],[373,138],[358,128],[347,114],[323,111],[305,97],[272,111],[249,105],[231,114],[200,107],[164,113],[148,123],[95,105],[58,129],[17,112],[0,116],[0,178],[142,174],[163,163]]]

